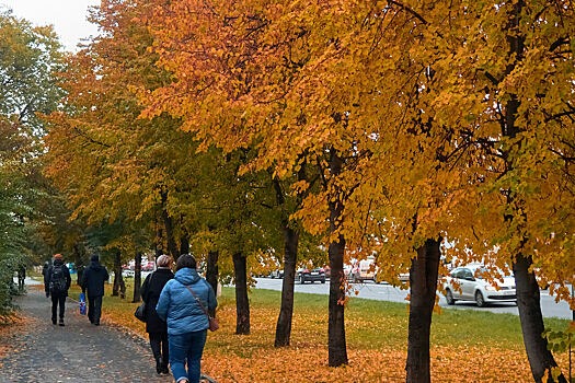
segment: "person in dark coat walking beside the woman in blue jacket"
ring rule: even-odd
[[[156,265],[158,266],[156,271],[149,274],[143,280],[141,297],[146,302],[146,333],[150,337],[150,347],[156,359],[156,372],[168,374],[170,373],[168,371],[168,361],[170,360],[168,325],[158,316],[156,304],[158,304],[158,299],[160,299],[160,293],[165,283],[174,278],[174,274],[170,269],[172,257],[160,255]]]

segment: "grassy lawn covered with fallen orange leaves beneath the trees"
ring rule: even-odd
[[[76,292],[72,294],[77,294]],[[131,292],[128,291],[128,297]],[[275,348],[280,294],[252,290],[249,336],[234,335],[233,290],[219,298],[220,329],[208,334],[203,371],[227,382],[401,382],[405,380],[405,304],[352,299],[346,310],[349,364],[327,367],[327,297],[296,294],[291,346]],[[138,303],[110,297],[104,317],[146,336],[133,313]],[[564,327],[566,321],[549,320]],[[444,310],[432,328],[434,382],[532,382],[519,318],[490,312]],[[556,356],[564,371],[566,355]]]

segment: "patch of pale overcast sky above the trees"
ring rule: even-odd
[[[76,50],[82,38],[95,35],[97,28],[89,23],[88,8],[100,0],[0,0],[0,9],[12,9],[15,16],[35,25],[54,25],[67,50]]]

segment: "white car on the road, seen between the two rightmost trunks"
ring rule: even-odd
[[[467,265],[451,270],[444,283],[447,304],[455,304],[456,301],[471,301],[483,307],[494,302],[517,303],[515,278],[505,276],[499,270],[503,281],[497,276],[491,282],[485,279],[487,272],[485,266],[481,264]]]

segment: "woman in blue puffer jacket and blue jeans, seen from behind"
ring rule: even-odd
[[[162,289],[156,312],[168,324],[170,367],[175,381],[195,383],[199,382],[209,326],[205,310],[216,309],[218,302],[211,286],[197,274],[192,255],[181,255],[175,269],[174,279]]]

